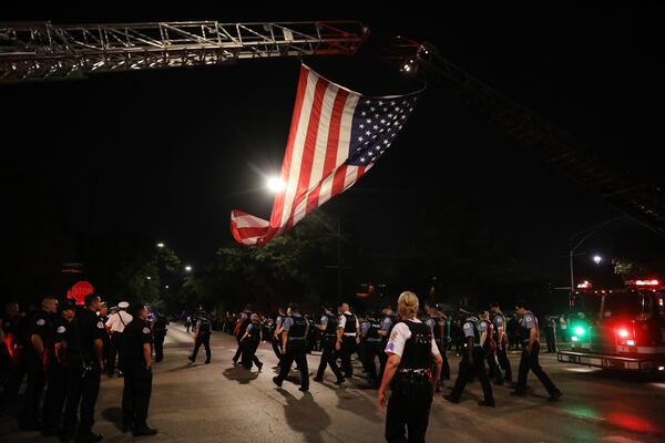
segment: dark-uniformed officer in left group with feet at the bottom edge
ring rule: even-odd
[[[81,421],[76,441],[99,442],[101,434],[92,432],[94,405],[100,392],[100,375],[104,370],[103,337],[104,323],[96,312],[100,310],[99,296],[85,296],[85,308],[76,312],[66,333],[66,404],[62,424],[63,440],[69,440],[76,430],[79,409]]]

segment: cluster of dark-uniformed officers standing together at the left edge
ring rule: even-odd
[[[106,372],[124,377],[122,431],[154,435],[156,430],[146,424],[152,353],[154,349],[156,361],[163,358],[166,318],[160,315],[151,322],[145,306],[127,302],[108,316],[94,295],[83,306],[49,296],[32,308],[20,315],[18,303],[8,303],[0,328],[0,408],[18,399],[25,380],[20,429],[61,441],[101,441],[93,432],[94,409]]]

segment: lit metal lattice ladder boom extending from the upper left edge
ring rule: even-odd
[[[93,72],[234,63],[241,59],[354,54],[359,21],[0,23],[0,82]]]

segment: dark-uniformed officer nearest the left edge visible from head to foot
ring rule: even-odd
[[[24,329],[23,342],[28,382],[19,419],[21,429],[25,431],[41,427],[37,418],[45,383],[44,357],[51,330],[51,316],[55,312],[58,312],[58,299],[47,296],[41,300],[41,309],[33,311],[25,320],[28,328]]]

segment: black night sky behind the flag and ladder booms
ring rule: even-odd
[[[371,8],[290,13],[284,6],[116,4],[100,11],[59,4],[10,11],[2,20],[358,19],[372,32],[358,56],[305,61],[356,91],[409,92],[422,84],[391,72],[378,60],[378,50],[396,34],[428,40],[443,56],[589,142],[610,162],[665,185],[665,39],[654,11],[449,11],[432,17],[428,8],[412,10],[418,18]],[[168,243],[201,266],[219,244],[231,241],[232,208],[269,216],[272,199],[262,174],[280,168],[297,74],[298,60],[280,59],[0,85],[6,214],[22,224],[27,202],[32,202],[43,208],[43,223],[74,230],[135,230]],[[480,113],[433,90],[376,167],[324,209],[341,210],[342,220],[359,233],[355,241],[366,249],[399,250],[417,235],[413,214],[446,202],[472,208],[514,255],[519,271],[532,278],[565,275],[569,237],[617,215],[549,171]],[[635,236],[638,247],[664,249],[643,227],[621,222],[583,250],[613,254],[616,236]]]

